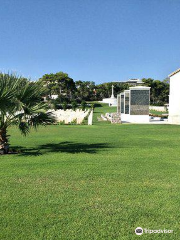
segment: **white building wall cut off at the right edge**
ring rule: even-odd
[[[171,124],[180,124],[180,68],[169,75],[169,117]]]

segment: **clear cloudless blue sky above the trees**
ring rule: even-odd
[[[180,68],[180,0],[0,0],[0,70],[35,80],[163,80]]]

